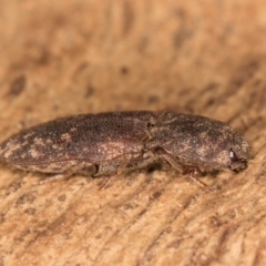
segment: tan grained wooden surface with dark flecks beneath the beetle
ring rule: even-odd
[[[55,117],[173,110],[227,122],[246,171],[37,183],[0,167],[0,265],[266,265],[264,1],[16,1],[0,9],[0,141]]]

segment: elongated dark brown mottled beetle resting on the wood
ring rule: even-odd
[[[247,166],[248,143],[223,122],[174,112],[81,114],[47,122],[0,145],[0,158],[28,171],[91,176],[163,161],[180,171]]]

